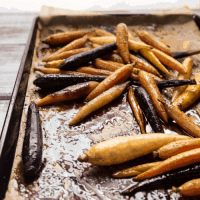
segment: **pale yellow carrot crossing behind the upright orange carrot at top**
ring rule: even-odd
[[[113,36],[91,37],[91,38],[89,38],[89,40],[92,43],[104,45],[104,44],[116,42],[116,37],[113,37]],[[151,49],[151,46],[149,46],[143,42],[134,41],[134,40],[130,40],[130,39],[128,40],[128,46],[129,46],[129,49],[133,50],[133,51],[137,51],[139,49]]]

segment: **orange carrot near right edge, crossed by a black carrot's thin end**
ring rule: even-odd
[[[190,79],[190,75],[192,73],[192,66],[193,66],[192,57],[187,57],[183,61],[183,67],[186,69],[186,73],[184,73],[184,74],[183,73],[179,73],[177,79],[178,80]],[[174,91],[173,91],[173,95],[172,95],[172,102],[174,102],[175,99],[177,99],[178,96],[180,96],[185,91],[186,88],[187,88],[187,85],[175,87]]]

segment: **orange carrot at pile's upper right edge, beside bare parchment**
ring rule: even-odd
[[[165,44],[157,40],[153,35],[151,35],[147,31],[136,31],[136,33],[139,36],[139,38],[146,44],[149,44],[155,47],[156,49],[159,49],[165,52],[166,54],[173,56],[173,52],[170,48],[168,48]]]

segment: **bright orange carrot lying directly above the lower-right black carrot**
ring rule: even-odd
[[[200,162],[200,148],[186,151],[163,160],[160,164],[136,176],[134,181],[142,181],[147,178],[152,178],[168,171],[185,167],[197,162]]]

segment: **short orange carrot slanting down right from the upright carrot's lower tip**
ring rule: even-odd
[[[137,56],[135,55],[132,55],[130,54],[130,59],[131,59],[131,62],[136,62],[136,65],[135,67],[138,68],[138,69],[142,69],[144,71],[147,71],[151,74],[155,74],[157,76],[160,76],[160,73],[151,65],[149,64],[148,62],[138,58]]]

